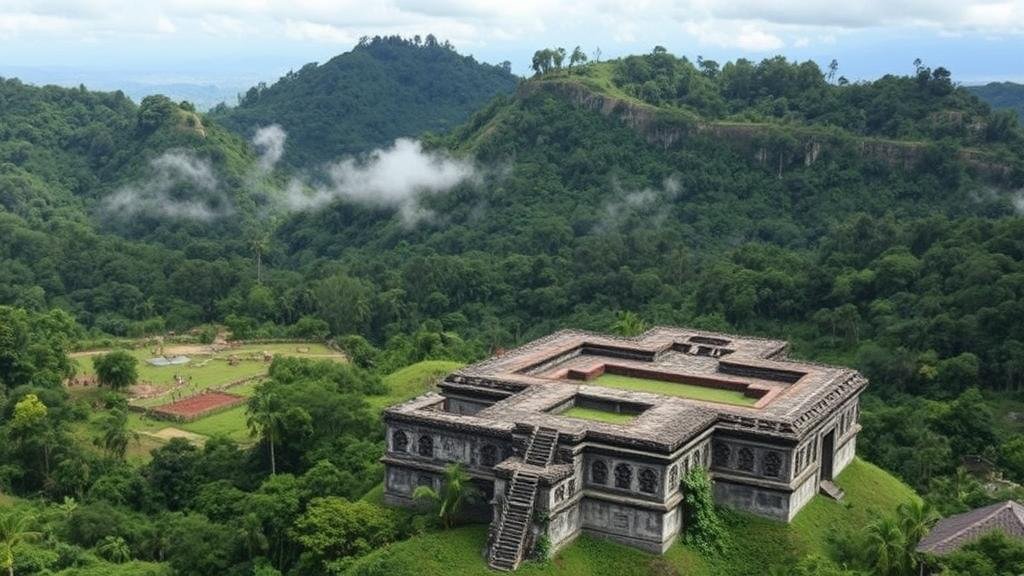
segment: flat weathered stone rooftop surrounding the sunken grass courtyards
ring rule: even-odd
[[[726,427],[796,438],[866,385],[853,370],[786,360],[785,352],[785,342],[779,340],[677,328],[653,328],[636,338],[565,330],[468,366],[449,376],[441,387],[503,399],[476,415],[492,423],[545,425],[568,436],[617,436],[671,450],[716,420]],[[587,372],[603,364],[738,383],[765,395],[756,406],[743,407],[614,389],[565,377],[570,370]],[[583,421],[552,412],[577,395],[649,408],[629,424]]]

